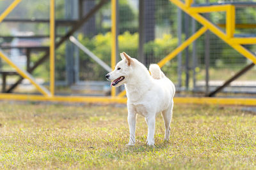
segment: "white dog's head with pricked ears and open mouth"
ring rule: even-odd
[[[115,70],[106,74],[107,80],[112,81],[111,86],[113,85],[114,87],[118,87],[127,82],[134,64],[134,60],[127,55],[127,53],[120,53],[120,57],[122,60],[116,64]]]

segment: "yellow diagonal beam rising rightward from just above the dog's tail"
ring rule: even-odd
[[[195,41],[198,37],[200,37],[202,34],[204,34],[205,31],[207,31],[207,27],[204,26],[201,29],[199,29],[197,32],[195,32],[195,34],[193,34],[193,36],[186,39],[186,41],[184,41],[184,43],[182,43],[180,46],[175,48],[175,50],[173,50],[170,54],[168,54],[166,57],[164,57],[164,59],[160,60],[157,63],[159,65],[159,67],[163,67],[164,64],[166,64],[166,62],[168,62],[169,60],[172,60],[176,55],[178,55],[178,53],[180,53],[187,46],[189,46],[191,43],[193,43],[193,41]]]

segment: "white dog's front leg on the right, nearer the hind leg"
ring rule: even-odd
[[[155,124],[156,124],[156,117],[146,117],[145,118],[147,124],[148,124],[148,139],[147,139],[147,145],[154,146],[154,135],[155,135]]]

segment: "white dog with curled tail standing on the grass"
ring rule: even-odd
[[[164,119],[165,136],[170,137],[170,122],[172,120],[173,96],[175,86],[157,64],[151,64],[148,69],[138,60],[120,53],[122,60],[116,64],[115,70],[106,74],[112,81],[111,85],[118,87],[125,84],[127,94],[128,124],[130,139],[127,145],[135,144],[135,127],[137,113],[145,117],[148,125],[147,145],[154,146],[155,122],[157,113]]]

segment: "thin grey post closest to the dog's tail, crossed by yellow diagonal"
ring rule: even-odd
[[[178,15],[177,15],[177,22],[178,22],[178,38],[179,38],[179,45],[181,45],[181,41],[182,41],[182,38],[181,38],[181,34],[182,34],[182,12],[180,10],[180,8],[178,8]],[[181,74],[182,74],[182,52],[180,52],[178,54],[178,87],[181,87],[182,86],[182,77],[181,77]]]

